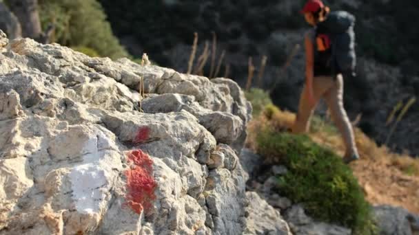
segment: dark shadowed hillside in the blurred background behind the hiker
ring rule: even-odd
[[[159,65],[187,71],[193,33],[198,32],[196,59],[203,53],[205,41],[212,49],[216,33],[216,61],[225,57],[219,76],[228,74],[245,87],[248,58],[252,56],[254,87],[272,90],[272,99],[283,109],[296,111],[304,80],[304,54],[301,49],[282,69],[287,57],[308,25],[298,14],[304,1],[159,1],[116,3],[101,0],[112,28],[131,54],[150,54]],[[348,10],[357,17],[358,77],[345,80],[345,106],[351,120],[362,114],[359,127],[379,145],[386,142],[386,120],[402,101],[419,96],[418,30],[410,21],[419,12],[417,1],[325,1],[332,10]],[[117,7],[115,4],[118,4]],[[138,11],[145,10],[147,14]],[[164,12],[164,14],[161,14]],[[135,28],[132,30],[132,23]],[[150,37],[153,40],[150,40]],[[163,52],[163,53],[162,53]],[[263,56],[267,65],[262,82],[256,79]],[[211,56],[204,67],[210,75]],[[276,85],[275,87],[273,87]],[[325,109],[320,107],[320,114]],[[390,148],[398,153],[419,155],[418,103],[400,122]]]

